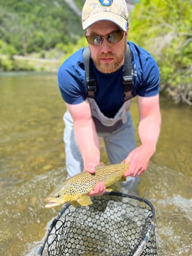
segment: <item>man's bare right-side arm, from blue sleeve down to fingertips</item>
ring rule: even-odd
[[[142,174],[148,167],[150,158],[155,153],[156,143],[160,133],[160,108],[158,95],[150,98],[138,96],[138,109],[140,123],[138,133],[141,145],[131,151],[125,161],[130,167],[125,176],[137,176]]]

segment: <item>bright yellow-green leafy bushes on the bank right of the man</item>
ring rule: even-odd
[[[191,0],[143,0],[130,15],[129,39],[153,53],[160,90],[176,103],[192,105]]]

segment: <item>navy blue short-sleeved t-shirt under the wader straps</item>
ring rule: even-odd
[[[133,96],[150,97],[158,94],[159,70],[153,57],[133,42],[128,42],[132,52]],[[58,71],[58,84],[66,103],[79,104],[87,98],[85,67],[79,49],[63,62]],[[111,74],[104,74],[94,65],[97,79],[95,100],[104,115],[112,118],[124,103],[123,67]]]

